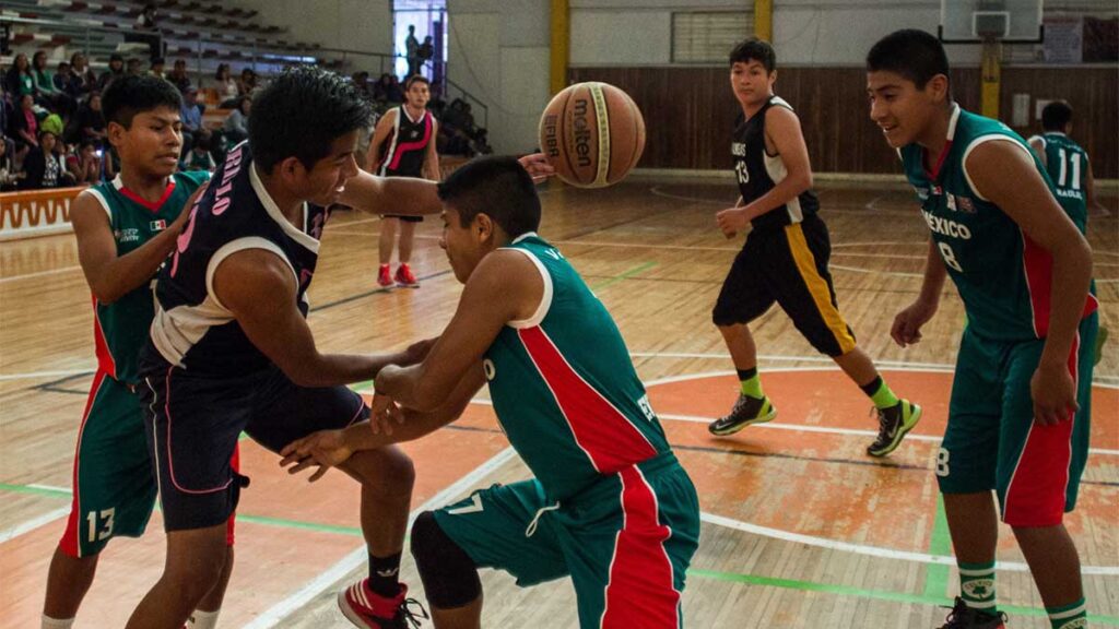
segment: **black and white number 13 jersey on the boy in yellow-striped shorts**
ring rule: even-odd
[[[765,150],[765,113],[773,106],[788,107],[792,111],[792,106],[779,96],[770,96],[758,113],[743,119],[734,129],[731,156],[734,158],[734,173],[739,181],[739,190],[742,193],[743,205],[761,198],[788,173],[781,156],[771,156]],[[754,218],[751,224],[754,229],[783,227],[800,223],[805,216],[816,214],[817,209],[819,201],[816,193],[805,190],[788,204]]]

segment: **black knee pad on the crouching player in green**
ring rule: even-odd
[[[420,514],[412,525],[412,556],[433,607],[460,608],[481,594],[474,561],[448,537],[431,511]]]

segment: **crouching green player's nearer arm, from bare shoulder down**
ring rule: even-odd
[[[423,363],[382,369],[378,394],[421,412],[442,406],[509,321],[527,319],[544,298],[540,272],[524,254],[498,250],[478,263],[454,317]]]

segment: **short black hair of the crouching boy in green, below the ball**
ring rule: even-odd
[[[486,157],[468,162],[439,185],[439,198],[453,204],[459,225],[467,227],[486,214],[515,238],[540,226],[540,197],[520,162]]]

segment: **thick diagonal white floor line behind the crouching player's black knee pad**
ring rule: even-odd
[[[459,497],[479,480],[486,478],[516,456],[517,454],[513,448],[506,448],[495,454],[490,460],[474,468],[474,470],[467,476],[460,478],[453,485],[443,489],[439,494],[435,494],[427,501],[420,505],[415,510],[408,514],[408,527],[411,528],[412,522],[414,522],[421,513],[450,503],[453,498]],[[355,548],[354,552],[342,557],[341,561],[327,569],[326,572],[314,578],[314,580],[308,582],[305,585],[288,595],[288,598],[272,605],[267,611],[256,617],[256,619],[248,625],[245,625],[244,629],[271,629],[272,627],[280,625],[291,613],[298,611],[340,579],[357,570],[357,567],[367,560],[368,551],[363,544],[360,547]]]

